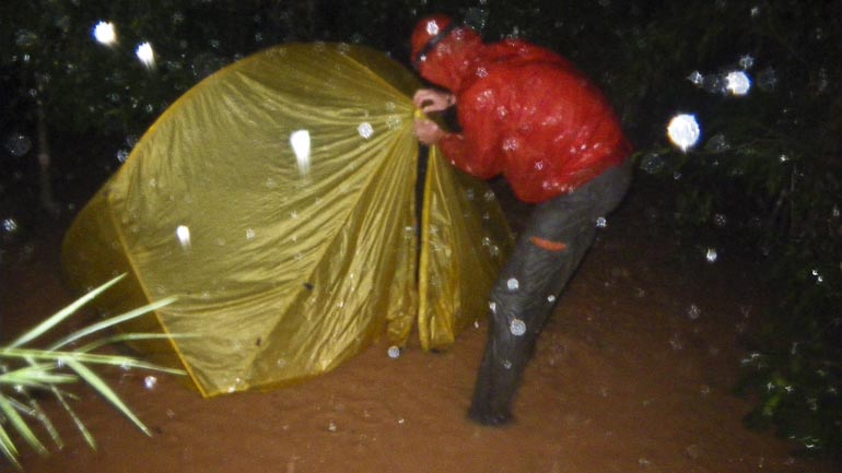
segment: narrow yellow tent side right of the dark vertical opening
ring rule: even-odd
[[[488,295],[514,245],[491,188],[430,152],[421,243],[418,330],[443,350],[489,312]]]

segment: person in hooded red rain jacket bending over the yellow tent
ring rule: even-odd
[[[594,241],[597,222],[622,200],[631,179],[631,144],[604,95],[573,64],[519,39],[483,44],[445,15],[412,34],[424,113],[457,106],[460,133],[430,120],[414,132],[437,144],[459,169],[505,177],[535,204],[514,253],[491,292],[489,340],[469,416],[511,419],[526,363],[561,289]]]

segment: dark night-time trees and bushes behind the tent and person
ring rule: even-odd
[[[747,424],[842,457],[840,2],[4,1],[0,241],[32,232],[38,214],[72,214],[155,117],[220,67],[309,40],[406,63],[416,21],[438,11],[489,39],[522,36],[570,57],[617,105],[639,150],[636,186],[670,197],[676,232],[762,262],[758,284],[776,300],[746,341],[737,388],[757,399]],[[116,25],[116,46],[93,40],[100,20]],[[135,57],[145,40],[151,69]],[[730,71],[748,74],[748,94],[727,93]],[[687,152],[665,133],[677,113],[702,128]],[[0,263],[10,259],[0,248]]]

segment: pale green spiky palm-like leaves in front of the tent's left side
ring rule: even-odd
[[[80,434],[91,448],[96,449],[93,435],[87,430],[82,419],[75,414],[68,402],[74,395],[62,387],[84,381],[114,407],[126,415],[140,430],[151,435],[149,428],[138,418],[132,411],[120,400],[116,392],[91,369],[92,365],[119,366],[121,368],[140,368],[163,371],[174,375],[184,375],[179,369],[164,368],[157,365],[144,363],[133,357],[93,353],[105,345],[130,341],[167,338],[161,333],[133,333],[104,335],[92,342],[81,344],[83,339],[94,334],[102,334],[104,330],[118,323],[140,317],[149,311],[156,310],[173,303],[174,297],[162,299],[120,316],[112,317],[97,323],[93,323],[78,330],[46,348],[34,348],[30,343],[51,331],[57,324],[73,315],[79,308],[102,294],[108,287],[120,281],[122,276],[103,284],[91,291],[74,303],[59,310],[47,320],[25,332],[11,343],[0,346],[0,450],[5,458],[17,469],[22,469],[19,462],[20,451],[12,438],[16,433],[23,441],[39,454],[48,454],[44,442],[33,430],[31,424],[39,423],[49,434],[57,447],[61,448],[63,441],[51,423],[47,413],[42,409],[35,392],[52,394],[58,403],[72,418]],[[74,347],[71,348],[71,345]]]

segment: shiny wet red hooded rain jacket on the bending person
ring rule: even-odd
[[[461,27],[419,70],[456,96],[463,133],[441,140],[445,156],[482,179],[502,174],[525,202],[569,193],[631,154],[603,93],[548,49],[518,39],[486,45]]]

